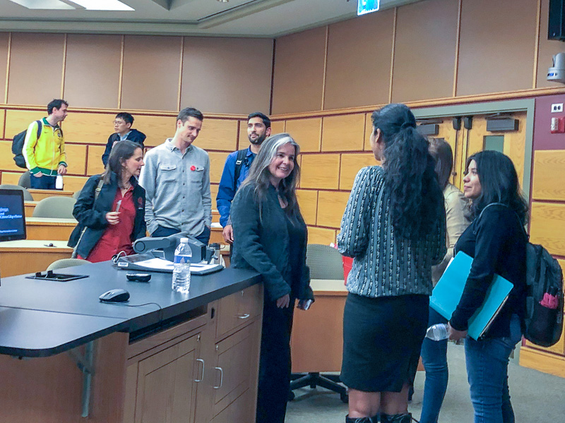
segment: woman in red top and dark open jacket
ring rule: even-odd
[[[87,180],[73,209],[78,226],[69,246],[76,257],[104,262],[120,252],[133,254],[133,241],[146,230],[145,190],[137,180],[141,166],[143,149],[121,141],[112,148],[105,172]]]

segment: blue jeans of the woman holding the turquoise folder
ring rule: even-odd
[[[514,423],[508,388],[508,363],[521,338],[520,318],[513,314],[510,336],[484,341],[465,339],[467,378],[475,423]]]

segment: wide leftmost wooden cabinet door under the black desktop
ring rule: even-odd
[[[136,423],[193,423],[198,335],[141,360],[138,366]]]

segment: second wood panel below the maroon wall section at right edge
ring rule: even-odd
[[[532,203],[530,242],[565,256],[565,204]]]

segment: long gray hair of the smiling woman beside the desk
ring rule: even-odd
[[[286,144],[290,144],[295,147],[295,167],[292,169],[289,176],[280,181],[278,186],[278,195],[286,200],[288,204],[286,207],[287,212],[295,214],[299,211],[296,199],[296,185],[300,180],[300,167],[298,166],[296,158],[300,153],[300,147],[289,134],[283,133],[273,135],[263,141],[261,150],[259,150],[257,157],[253,161],[253,164],[251,164],[249,174],[242,185],[254,183],[256,185],[255,192],[258,197],[259,204],[261,204],[270,185],[270,162],[275,158],[278,149]]]

